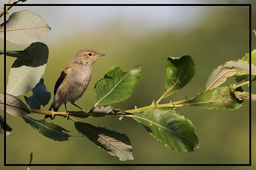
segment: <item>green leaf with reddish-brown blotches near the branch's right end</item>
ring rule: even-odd
[[[236,110],[243,101],[236,98],[230,87],[215,87],[199,94],[185,105],[199,106],[206,109]]]

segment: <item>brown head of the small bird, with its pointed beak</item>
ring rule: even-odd
[[[104,55],[96,52],[94,49],[85,48],[75,54],[74,60],[76,63],[87,65],[93,64],[100,56]]]

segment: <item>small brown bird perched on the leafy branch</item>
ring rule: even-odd
[[[69,101],[74,106],[82,111],[83,108],[75,104],[84,94],[92,74],[92,64],[105,54],[100,54],[94,49],[81,49],[78,51],[70,63],[60,73],[55,86],[54,86],[54,99],[49,110],[58,111],[61,105],[65,104],[67,111],[67,102]],[[54,119],[55,115],[45,115],[45,118],[50,117]]]

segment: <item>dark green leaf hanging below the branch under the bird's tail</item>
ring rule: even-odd
[[[27,116],[23,116],[22,118],[27,124],[30,124],[32,128],[47,138],[57,141],[65,141],[71,136],[65,133],[70,131],[67,131],[59,125],[46,122],[45,119],[37,120]]]

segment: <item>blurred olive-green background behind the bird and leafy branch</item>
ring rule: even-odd
[[[181,57],[190,55],[197,66],[196,76],[182,90],[165,98],[161,103],[170,100],[177,101],[193,97],[205,90],[209,74],[218,65],[229,60],[242,58],[249,52],[249,7],[143,7],[154,16],[151,20],[144,18],[143,10],[139,7],[68,7],[68,18],[62,22],[61,15],[55,15],[60,9],[54,7],[14,7],[10,13],[28,9],[44,17],[52,28],[42,41],[49,48],[49,58],[44,83],[51,92],[63,68],[70,62],[74,54],[82,48],[94,48],[100,53],[107,54],[98,59],[93,66],[92,79],[84,96],[78,105],[89,109],[94,105],[93,88],[106,70],[114,65],[121,65],[123,70],[131,69],[134,65],[142,64],[142,74],[139,84],[130,98],[117,104],[114,108],[128,110],[149,105],[152,99],[157,100],[164,91],[165,62],[167,56]],[[79,10],[77,10],[77,8]],[[126,9],[125,9],[126,8]],[[200,10],[200,11],[197,11]],[[55,13],[51,13],[55,11]],[[74,11],[74,12],[73,12]],[[111,11],[116,17],[104,15]],[[135,12],[134,14],[134,11]],[[165,12],[166,11],[166,12]],[[168,13],[176,11],[177,13]],[[252,9],[255,15],[255,6]],[[81,12],[81,14],[80,14]],[[99,14],[100,13],[100,14]],[[124,14],[127,13],[127,14]],[[95,14],[95,15],[94,15]],[[176,15],[175,15],[176,14]],[[95,18],[94,18],[95,17]],[[169,20],[168,18],[173,18]],[[101,20],[98,20],[101,18]],[[155,22],[154,20],[159,20]],[[185,20],[185,21],[180,21]],[[174,25],[172,25],[172,21]],[[179,22],[180,21],[180,22]],[[70,24],[72,23],[72,24]],[[252,22],[253,30],[256,22]],[[23,50],[28,45],[16,45],[7,41],[7,50]],[[256,38],[252,34],[252,49],[256,48]],[[3,44],[0,45],[3,49]],[[7,57],[6,77],[15,58]],[[1,73],[3,73],[3,57],[1,57]],[[0,79],[3,80],[3,74]],[[224,85],[234,82],[229,78]],[[8,78],[6,80],[8,83]],[[0,89],[3,91],[3,83]],[[244,90],[249,88],[244,87]],[[252,92],[256,93],[255,84]],[[30,94],[30,93],[29,93]],[[20,97],[24,101],[23,97]],[[52,98],[50,103],[52,102]],[[48,110],[50,104],[41,109]],[[67,105],[68,110],[77,110],[73,105]],[[255,120],[256,104],[252,103],[252,120]],[[64,111],[62,106],[59,111]],[[37,133],[22,118],[7,114],[7,121],[13,132],[7,136],[6,163],[28,163],[30,151],[33,152],[34,164],[247,164],[249,163],[249,102],[235,111],[206,110],[199,107],[182,107],[176,109],[185,115],[195,125],[200,139],[199,149],[191,153],[179,153],[165,147],[155,140],[137,121],[131,118],[106,116],[102,118],[86,118],[79,121],[88,122],[95,126],[106,127],[119,133],[125,133],[131,140],[134,149],[134,160],[120,162],[118,157],[99,149],[88,139],[71,137],[65,142],[56,142]],[[3,110],[0,110],[3,114]],[[33,118],[43,119],[43,115],[33,114]],[[72,121],[56,117],[47,121],[63,126],[78,135]],[[252,124],[252,143],[256,142],[256,124]],[[0,136],[3,146],[3,135]],[[255,145],[252,145],[252,157],[255,157]],[[3,147],[0,148],[3,153]],[[0,154],[3,160],[3,154]],[[255,159],[252,164],[255,164]],[[1,161],[3,165],[3,161]],[[146,167],[145,167],[146,168]],[[182,167],[179,167],[182,169]],[[178,167],[176,169],[179,169]],[[203,167],[202,167],[203,168]],[[253,167],[251,167],[253,168]],[[21,170],[26,167],[4,167],[6,170]],[[32,167],[31,169],[40,169]],[[50,169],[84,169],[82,167],[44,167]],[[98,169],[98,167],[90,167]],[[100,169],[119,169],[118,167],[100,167]],[[136,167],[122,167],[136,169]],[[139,168],[141,169],[141,168]],[[148,167],[146,169],[149,169]],[[161,168],[158,168],[161,169]],[[165,169],[165,167],[162,167]],[[190,169],[199,169],[191,167]],[[208,168],[209,169],[209,168]],[[214,167],[212,169],[215,169]],[[229,169],[240,169],[230,167]]]

